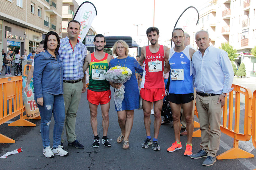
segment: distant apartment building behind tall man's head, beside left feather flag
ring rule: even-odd
[[[78,3],[75,0],[62,0],[62,36],[67,36],[67,26],[69,21],[73,20],[77,9],[79,8]],[[86,35],[96,35],[96,31],[90,26]]]

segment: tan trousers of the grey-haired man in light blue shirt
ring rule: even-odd
[[[217,103],[219,96],[196,97],[202,139],[200,146],[212,157],[216,156],[220,147],[221,107],[220,103]]]

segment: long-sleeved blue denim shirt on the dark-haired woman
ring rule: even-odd
[[[47,51],[35,57],[33,73],[34,92],[36,98],[43,97],[43,92],[53,95],[63,94],[63,65]]]

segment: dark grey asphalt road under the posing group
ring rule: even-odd
[[[113,92],[112,92],[113,93]],[[102,139],[102,116],[101,109],[98,107],[98,133]],[[175,141],[173,128],[170,124],[162,125],[158,137],[158,143],[161,147],[160,151],[154,151],[151,147],[142,148],[141,144],[146,137],[143,110],[135,110],[134,123],[129,137],[130,148],[122,149],[122,144],[116,142],[121,131],[117,121],[117,113],[115,112],[114,101],[111,99],[110,106],[110,125],[108,129],[108,138],[111,147],[93,148],[93,133],[90,125],[90,111],[87,101],[87,92],[82,94],[79,110],[77,113],[76,134],[77,139],[85,148],[77,149],[68,146],[65,141],[64,149],[69,152],[67,157],[55,156],[54,158],[45,158],[43,155],[43,146],[40,130],[40,120],[30,120],[36,124],[36,127],[11,127],[8,123],[0,125],[0,133],[6,135],[16,141],[14,144],[0,143],[0,155],[22,148],[22,152],[8,156],[6,159],[0,159],[1,169],[255,169],[256,158],[217,160],[214,165],[205,167],[201,165],[202,159],[191,159],[184,156],[186,137],[181,137],[183,145],[181,150],[175,152],[166,152],[166,149]],[[242,116],[241,116],[242,117]],[[18,116],[10,121],[15,121]],[[197,118],[195,118],[197,120]],[[151,115],[151,136],[153,135],[154,116]],[[52,132],[54,120],[51,121],[50,139],[52,146]],[[153,136],[152,136],[153,137]],[[200,149],[200,137],[192,140],[193,152],[196,153]],[[247,150],[251,154],[256,155],[256,149],[251,141],[240,142],[239,148]],[[227,135],[221,135],[220,149],[217,154],[221,154],[233,147],[233,139]]]

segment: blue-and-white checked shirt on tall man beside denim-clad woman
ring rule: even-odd
[[[83,64],[87,54],[86,46],[78,41],[73,48],[68,37],[60,40],[59,59],[64,68],[64,80],[79,80],[84,77]]]

